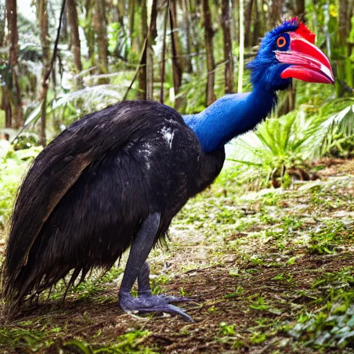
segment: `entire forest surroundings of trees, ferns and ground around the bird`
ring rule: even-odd
[[[91,274],[64,305],[65,279],[18,319],[1,319],[1,351],[353,353],[353,8],[0,0],[0,257],[30,162],[84,114],[124,99],[196,113],[250,91],[245,65],[261,37],[294,16],[315,32],[336,79],[294,80],[270,118],[227,146],[221,176],[178,214],[169,248],[151,254],[153,291],[191,298],[196,323],[122,313],[122,262]]]

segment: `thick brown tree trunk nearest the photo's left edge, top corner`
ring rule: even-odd
[[[15,128],[24,125],[24,112],[22,111],[21,91],[19,81],[17,80],[18,63],[17,56],[19,54],[19,36],[17,32],[17,1],[6,0],[6,16],[8,20],[8,36],[10,42],[9,50],[9,71],[12,75],[12,92],[10,93],[12,101],[12,112],[15,115]],[[12,97],[13,94],[13,97]]]

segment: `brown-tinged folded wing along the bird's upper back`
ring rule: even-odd
[[[68,127],[37,156],[19,189],[12,214],[5,284],[26,265],[41,228],[82,171],[99,162],[110,149],[126,145],[137,132],[143,134],[151,124],[151,110],[158,114],[159,109],[166,109],[156,102],[149,104],[122,102],[92,113]],[[171,115],[183,122],[173,109]]]

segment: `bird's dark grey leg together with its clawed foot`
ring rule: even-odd
[[[119,301],[120,307],[127,312],[140,313],[175,313],[189,321],[192,318],[186,315],[180,308],[170,305],[165,297],[151,295],[149,285],[149,265],[145,265],[147,257],[155,241],[158,227],[160,226],[160,213],[150,214],[142,223],[136,238],[131,245],[127,265],[124,270],[122,284],[120,286]],[[140,276],[142,289],[138,297],[131,296],[131,288]],[[145,291],[148,293],[144,293]]]

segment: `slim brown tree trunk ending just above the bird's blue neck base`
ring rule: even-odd
[[[202,0],[202,17],[204,24],[205,49],[207,52],[207,106],[216,100],[214,92],[214,53],[213,53],[213,36],[212,17],[210,15],[208,0]]]

